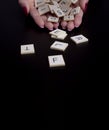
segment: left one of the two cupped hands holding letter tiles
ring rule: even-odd
[[[46,15],[39,15],[38,10],[34,7],[34,0],[18,0],[21,5],[24,13],[30,14],[33,18],[34,22],[41,28],[46,27],[49,30],[53,30],[53,28],[58,28],[59,23],[51,23],[47,21]]]

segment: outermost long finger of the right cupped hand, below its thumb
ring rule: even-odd
[[[80,9],[79,14],[75,15],[75,19],[74,19],[74,26],[75,27],[80,26],[80,24],[82,23],[82,18],[83,18],[83,11],[82,11],[82,9]]]

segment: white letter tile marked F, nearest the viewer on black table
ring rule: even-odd
[[[49,67],[65,66],[65,61],[62,55],[48,56]]]

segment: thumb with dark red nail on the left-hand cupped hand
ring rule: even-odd
[[[25,15],[28,15],[30,10],[29,0],[18,0],[18,3],[21,5]]]

